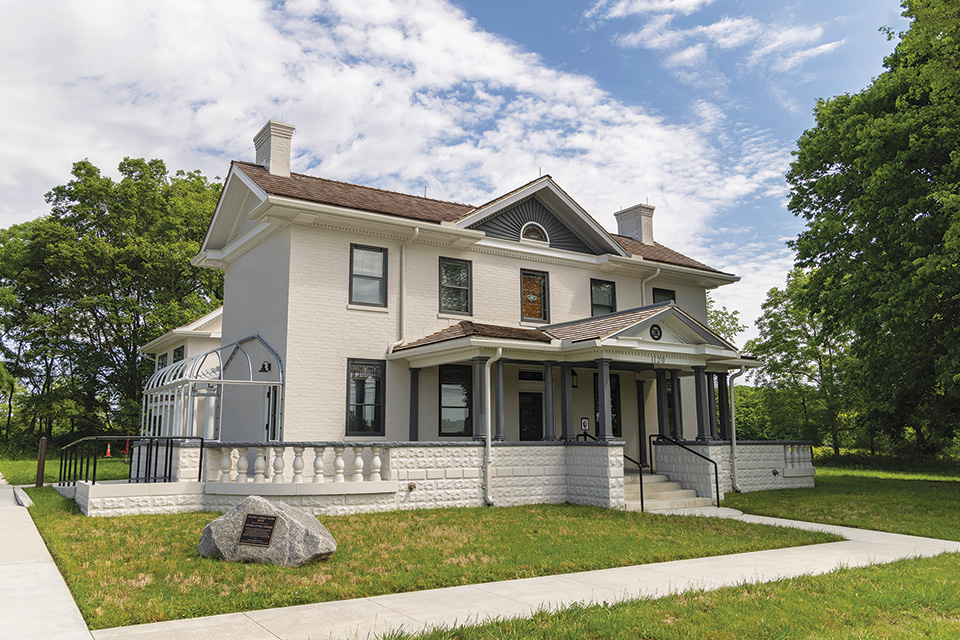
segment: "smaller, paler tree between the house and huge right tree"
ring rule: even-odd
[[[820,442],[822,428],[839,453],[843,380],[851,365],[849,337],[824,330],[820,316],[803,306],[811,280],[812,276],[794,269],[783,289],[767,292],[756,323],[760,335],[746,348],[764,362],[754,379],[779,392],[776,402],[768,405],[771,421],[794,424],[794,433],[781,433],[781,437]]]

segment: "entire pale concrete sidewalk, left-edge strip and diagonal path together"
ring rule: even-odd
[[[825,531],[846,540],[118,627],[95,631],[91,636],[27,510],[16,504],[12,487],[0,486],[0,636],[4,640],[367,638],[395,629],[415,633],[529,616],[574,603],[658,598],[688,589],[718,589],[827,573],[840,567],[960,552],[960,542],[742,515],[732,509],[708,508],[698,513]]]

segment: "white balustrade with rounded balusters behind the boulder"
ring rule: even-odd
[[[247,454],[253,449],[252,478],[248,475],[250,459]],[[292,449],[292,475],[288,478],[284,473],[288,465],[286,455]],[[384,478],[384,447],[379,446],[315,446],[313,449],[312,464],[304,460],[307,448],[300,445],[272,444],[260,447],[208,447],[204,455],[210,456],[207,462],[205,479],[208,482],[254,482],[262,484],[303,482],[381,482]],[[327,470],[327,450],[333,449],[332,478],[325,476]],[[348,449],[352,453],[347,454]],[[364,460],[364,453],[368,454],[368,461]],[[349,460],[348,460],[349,457]],[[304,480],[304,471],[310,466],[313,475],[310,480]],[[348,469],[349,467],[349,469]],[[234,475],[235,474],[235,475]],[[309,471],[307,472],[309,475]],[[389,477],[389,474],[387,474]]]

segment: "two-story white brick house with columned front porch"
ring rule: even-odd
[[[310,482],[311,473],[337,482],[353,465],[357,481],[469,478],[488,501],[497,449],[514,460],[511,477],[559,477],[514,480],[499,503],[549,485],[534,493],[621,507],[623,461],[647,464],[650,435],[728,446],[728,374],[754,362],[707,327],[706,291],[739,278],[656,243],[652,206],[617,212],[613,234],[550,176],[480,206],[325,180],[290,172],[292,134],[271,121],[254,139],[256,162],[231,164],[194,259],[225,274],[224,346],[206,375],[237,385],[218,387],[201,411],[190,394],[207,379],[183,374],[185,404],[162,419],[150,398],[163,404],[172,387],[148,386],[144,435],[216,441],[220,458],[209,464],[221,483]],[[582,432],[606,447],[602,499],[569,488],[592,473]],[[522,445],[536,448],[524,457]],[[809,466],[803,451],[778,446],[780,467]],[[421,458],[456,450],[474,462],[431,478],[411,462],[421,449]],[[731,456],[716,457],[729,487]],[[697,484],[697,464],[668,458]],[[770,475],[771,486],[791,486]],[[812,483],[812,471],[801,475]],[[440,503],[475,503],[475,487],[467,492]]]

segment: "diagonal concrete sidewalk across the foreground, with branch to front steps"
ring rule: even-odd
[[[826,531],[847,540],[104,629],[95,631],[93,635],[96,640],[367,638],[395,629],[415,633],[493,618],[529,616],[541,609],[553,610],[574,603],[658,598],[688,589],[710,590],[748,582],[769,582],[827,573],[841,567],[859,567],[960,551],[958,542],[762,516],[734,515],[731,511],[714,513],[758,524]]]

